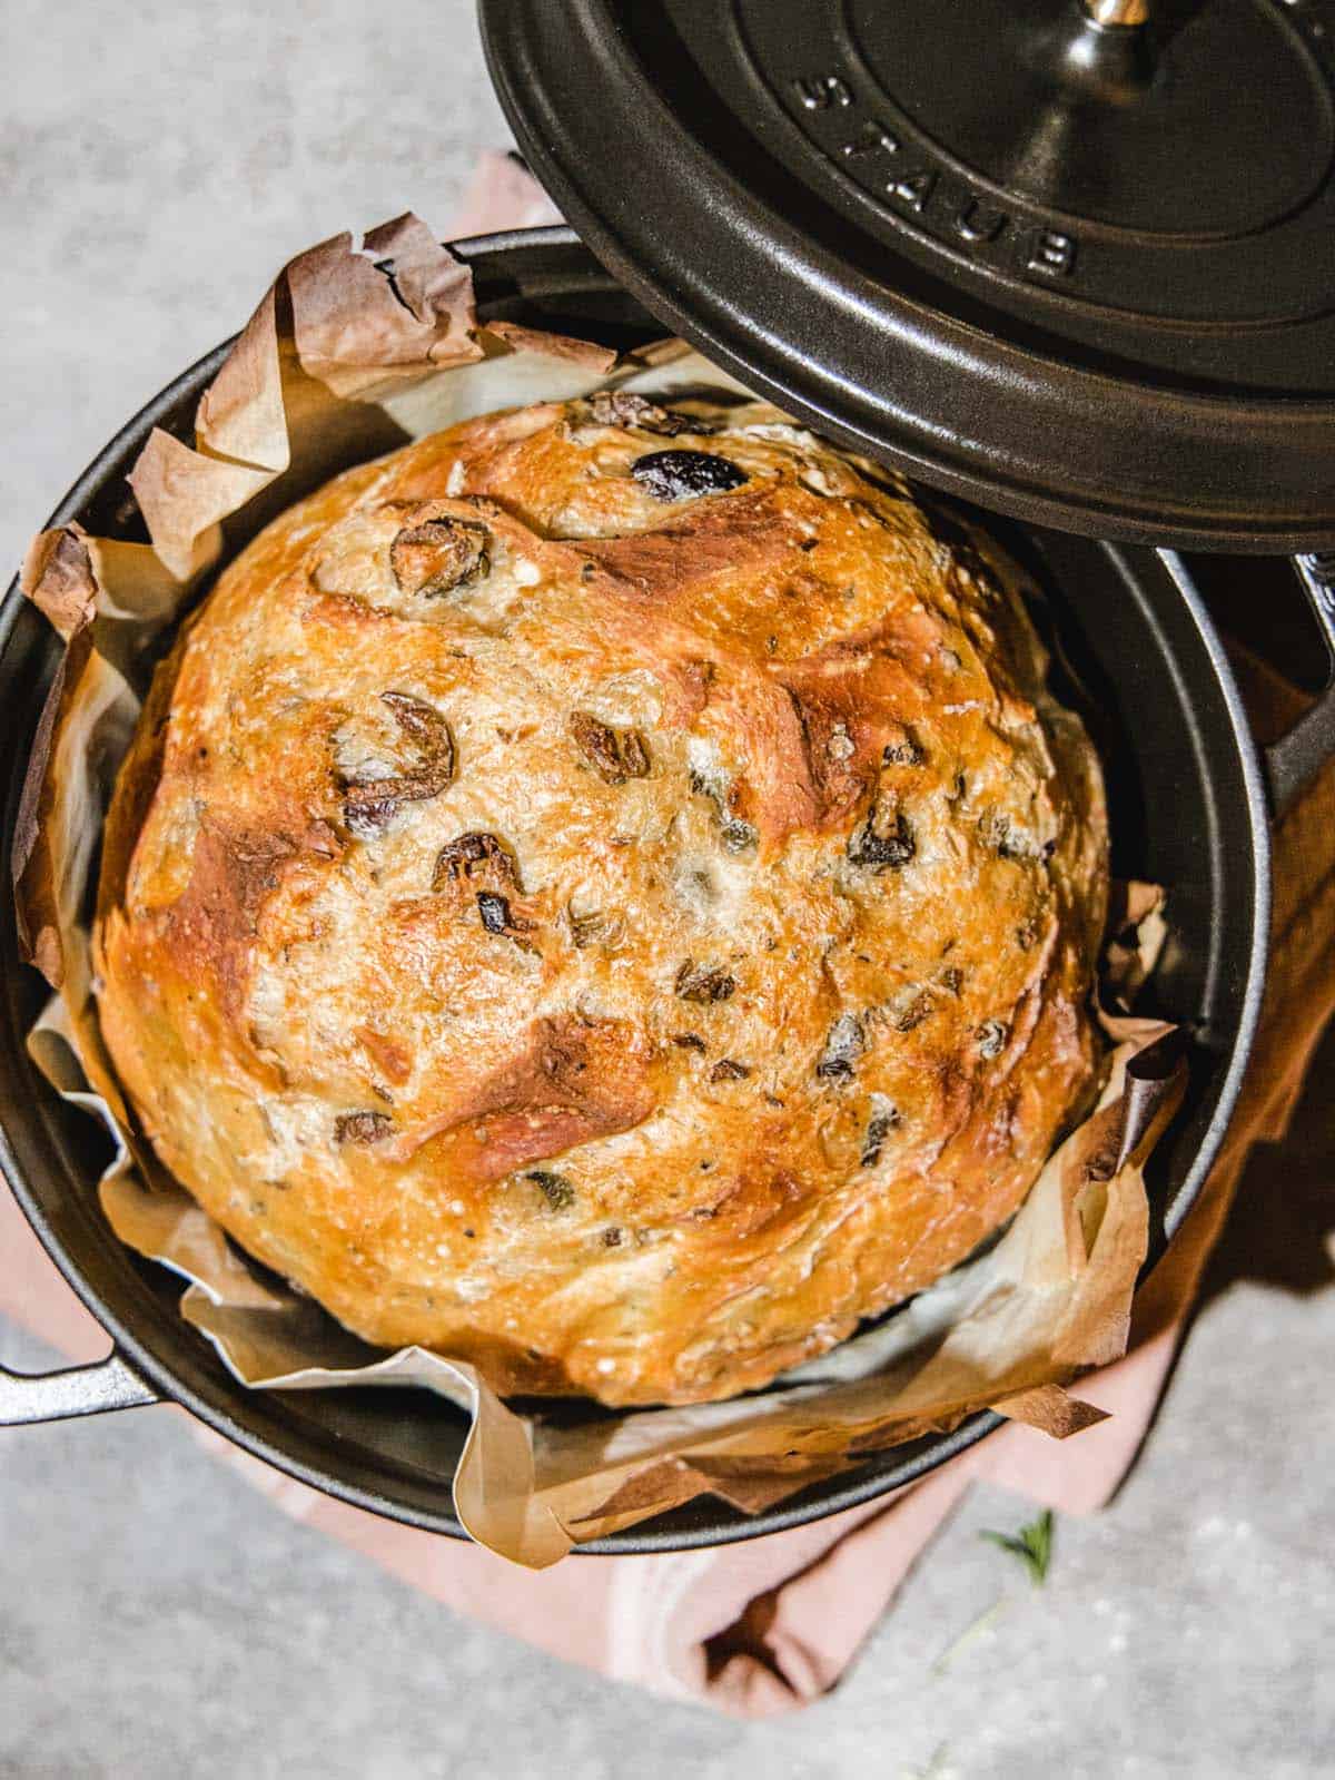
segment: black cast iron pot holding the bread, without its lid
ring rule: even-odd
[[[473,267],[484,317],[522,319],[628,345],[662,329],[570,230],[490,235],[457,249]],[[228,347],[201,360],[137,415],[84,472],[52,525],[142,538],[125,475],[151,427],[192,438],[199,393]],[[285,484],[283,498],[304,490]],[[230,545],[256,529],[244,516]],[[1096,543],[988,522],[1048,589],[1038,614],[1057,643],[1059,692],[1084,710],[1104,758],[1112,869],[1169,886],[1171,940],[1152,1011],[1191,1034],[1191,1088],[1150,1169],[1150,1266],[1182,1223],[1219,1148],[1251,1047],[1266,975],[1269,821],[1335,753],[1335,689],[1262,764],[1193,566],[1168,550]],[[1335,651],[1335,587],[1323,561],[1298,561],[1323,644]],[[1239,575],[1248,573],[1237,564]],[[1294,587],[1294,600],[1299,600]],[[4,853],[55,635],[18,584],[0,607]],[[1269,780],[1269,785],[1267,785]],[[463,1536],[450,1479],[465,1419],[425,1392],[253,1392],[180,1315],[180,1280],[126,1250],[105,1225],[94,1182],[105,1139],[66,1105],[25,1052],[44,984],[16,949],[12,901],[0,901],[0,1164],[48,1253],[114,1342],[91,1367],[25,1378],[0,1371],[0,1424],[55,1420],[171,1399],[258,1458],[374,1513]],[[0,1262],[2,1264],[2,1262]],[[603,1415],[596,1406],[554,1413]],[[762,1515],[703,1497],[586,1552],[675,1550],[774,1533],[899,1488],[999,1424],[975,1415],[952,1435],[869,1458]]]

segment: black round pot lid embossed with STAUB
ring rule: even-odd
[[[1335,545],[1335,0],[479,0],[666,324],[1018,518]]]

